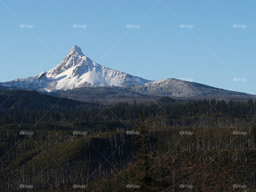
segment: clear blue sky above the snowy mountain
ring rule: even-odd
[[[145,79],[187,78],[256,94],[255,1],[0,0],[0,5],[0,82],[47,71],[77,45],[100,65]]]

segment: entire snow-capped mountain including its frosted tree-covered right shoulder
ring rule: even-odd
[[[85,89],[85,87],[123,87],[123,90],[144,95],[197,97],[220,95],[249,95],[210,87],[207,85],[163,79],[150,81],[140,77],[109,69],[86,57],[80,47],[74,45],[61,63],[49,71],[43,71],[35,77],[15,79],[0,83],[8,89],[36,90],[41,92],[65,91],[67,89]],[[129,94],[127,92],[127,94]]]

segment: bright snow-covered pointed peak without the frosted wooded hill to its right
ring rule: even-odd
[[[86,57],[74,45],[64,60],[53,69],[35,77],[15,79],[0,83],[10,89],[26,89],[52,92],[85,86],[133,86],[151,81],[101,66]]]

